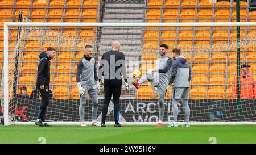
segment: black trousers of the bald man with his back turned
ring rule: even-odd
[[[113,103],[114,103],[115,123],[118,123],[119,113],[120,113],[119,103],[120,103],[121,89],[122,89],[122,80],[117,80],[117,79],[104,80],[104,97],[105,98],[104,98],[104,104],[102,107],[102,116],[101,116],[102,123],[105,123],[112,94],[113,94]]]

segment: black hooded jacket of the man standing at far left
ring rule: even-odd
[[[50,82],[50,58],[45,52],[39,55],[40,61],[38,63],[38,78],[36,79],[36,87],[48,86]]]

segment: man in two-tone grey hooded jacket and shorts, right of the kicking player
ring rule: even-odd
[[[172,112],[174,114],[174,122],[169,127],[177,127],[177,116],[179,109],[177,105],[179,100],[182,99],[182,103],[185,109],[185,124],[183,127],[189,127],[189,115],[190,109],[188,106],[189,99],[189,82],[191,80],[191,68],[187,63],[184,56],[180,55],[180,49],[173,49],[174,61],[172,62],[172,73],[170,83],[174,83],[174,92],[172,95]]]

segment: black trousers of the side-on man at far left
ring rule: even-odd
[[[49,104],[49,87],[44,86],[44,89],[38,88],[41,94],[42,103],[40,105],[38,119],[42,120],[43,122],[46,120],[46,108]]]

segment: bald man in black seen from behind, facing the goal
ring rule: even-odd
[[[119,123],[119,102],[122,88],[122,79],[125,80],[125,89],[128,89],[125,55],[119,52],[121,44],[114,41],[112,50],[105,52],[100,60],[98,71],[99,80],[104,76],[104,104],[102,107],[101,127],[106,127],[105,120],[111,96],[113,94],[115,127],[122,127]],[[102,81],[100,81],[102,83]]]

